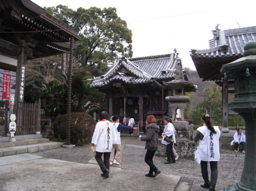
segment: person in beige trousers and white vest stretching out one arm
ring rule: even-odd
[[[112,117],[112,120],[113,120],[112,124],[115,128],[115,132],[116,132],[116,135],[117,135],[117,142],[116,142],[116,144],[113,144],[109,160],[110,160],[110,165],[113,165],[113,164],[119,165],[118,162],[119,162],[121,152],[122,152],[120,131],[121,130],[128,131],[128,130],[131,130],[131,129],[138,130],[138,127],[128,127],[128,126],[122,125],[119,122],[119,117],[117,115],[114,115]],[[115,153],[115,150],[116,150],[116,153]]]

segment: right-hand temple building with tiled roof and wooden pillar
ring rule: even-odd
[[[235,93],[234,79],[229,79],[220,70],[223,64],[229,64],[243,57],[243,46],[256,41],[256,26],[221,30],[216,26],[209,40],[209,49],[191,49],[191,58],[202,81],[216,81],[222,87],[222,132],[229,133],[228,117],[234,112],[229,110],[228,94]]]

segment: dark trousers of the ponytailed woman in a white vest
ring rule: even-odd
[[[218,178],[218,161],[210,161],[211,181],[209,181],[207,164],[208,164],[207,161],[201,160],[200,165],[201,165],[202,178],[204,179],[204,184],[215,186]]]

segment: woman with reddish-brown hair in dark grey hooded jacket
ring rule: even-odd
[[[145,149],[147,149],[147,152],[145,155],[145,162],[149,166],[149,172],[148,174],[145,174],[145,176],[155,178],[158,174],[161,173],[161,171],[154,165],[153,162],[153,157],[159,147],[158,133],[160,131],[160,127],[156,125],[154,115],[148,115],[146,123],[148,124],[146,128],[146,135],[139,136],[140,141],[146,141]]]

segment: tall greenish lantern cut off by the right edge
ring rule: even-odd
[[[256,191],[256,42],[243,47],[243,57],[224,64],[221,73],[235,80],[235,99],[229,108],[245,121],[246,153],[240,182],[223,191]]]

